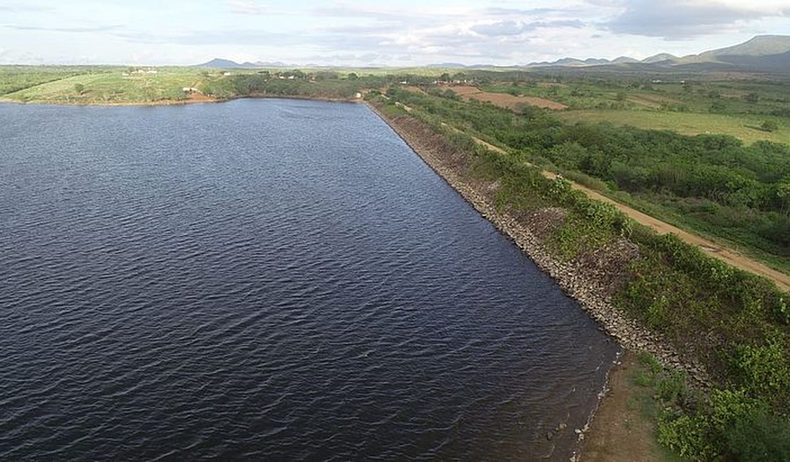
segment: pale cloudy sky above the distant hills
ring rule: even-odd
[[[790,0],[0,0],[0,64],[524,65],[790,34]]]

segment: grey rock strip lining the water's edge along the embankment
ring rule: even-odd
[[[590,411],[584,427],[581,429],[569,429],[570,431],[575,430],[577,433],[576,443],[573,448],[574,456],[571,460],[580,460],[581,456],[583,456],[580,452],[581,442],[585,439],[585,434],[590,430],[590,427],[594,427],[595,416],[599,409],[608,404],[604,401],[604,397],[611,393],[609,388],[611,376],[615,373],[615,368],[623,357],[633,355],[634,352],[639,351],[649,352],[656,356],[661,363],[686,371],[689,377],[696,382],[697,386],[701,388],[709,386],[710,380],[702,365],[682,359],[678,352],[675,352],[674,348],[669,346],[668,341],[664,341],[655,333],[638,326],[633,320],[626,319],[626,316],[611,304],[611,299],[608,296],[601,296],[605,292],[604,285],[600,281],[582,274],[581,270],[570,263],[560,262],[551,256],[546,245],[533,233],[532,229],[529,229],[529,225],[521,223],[520,220],[507,212],[498,211],[495,205],[484,196],[483,191],[480,191],[480,187],[476,187],[475,184],[472,184],[472,181],[465,179],[463,173],[455,171],[457,169],[453,169],[448,159],[442,158],[442,154],[438,150],[428,146],[424,140],[420,140],[419,133],[412,132],[408,127],[398,123],[398,119],[401,117],[410,116],[390,119],[370,102],[364,103],[374,114],[389,125],[390,129],[393,129],[393,132],[400,136],[401,140],[404,140],[431,170],[434,170],[439,177],[442,177],[451,188],[472,205],[483,218],[491,222],[500,233],[508,237],[544,274],[551,277],[566,296],[575,300],[598,324],[599,330],[606,333],[620,345],[621,352],[618,353],[615,360],[608,367],[603,387],[597,395],[596,404]],[[422,124],[422,122],[419,123]]]

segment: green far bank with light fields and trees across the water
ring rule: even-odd
[[[404,81],[431,84],[434,77],[381,70],[0,66],[0,97],[70,104],[183,102],[195,95],[354,99],[357,92]]]

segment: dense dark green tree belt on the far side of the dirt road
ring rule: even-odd
[[[544,110],[522,114],[451,95],[392,89],[389,95],[532,162],[595,177],[613,191],[658,203],[720,237],[790,257],[790,148],[744,146],[724,135],[596,124],[567,125]]]

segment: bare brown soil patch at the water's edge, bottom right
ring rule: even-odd
[[[609,372],[608,392],[600,401],[590,429],[581,442],[582,462],[650,462],[661,460],[653,423],[642,414],[634,383],[641,365],[631,352]]]

